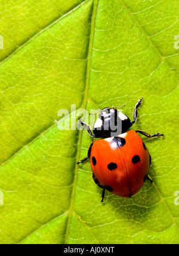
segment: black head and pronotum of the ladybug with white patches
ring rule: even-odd
[[[126,132],[132,122],[128,116],[115,108],[105,107],[95,121],[93,133],[96,138],[108,138]]]

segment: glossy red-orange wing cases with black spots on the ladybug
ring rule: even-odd
[[[97,181],[113,194],[131,197],[143,186],[149,172],[150,155],[134,130],[118,135],[124,143],[116,147],[116,137],[94,141],[91,168]],[[120,143],[119,143],[120,144]]]

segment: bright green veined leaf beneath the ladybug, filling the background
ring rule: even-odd
[[[177,0],[1,1],[0,243],[179,242],[178,7]],[[153,183],[132,199],[106,192],[101,203],[90,162],[76,164],[91,138],[74,129],[71,105],[90,113],[125,104],[132,119],[140,97],[132,128],[164,134],[141,135]]]

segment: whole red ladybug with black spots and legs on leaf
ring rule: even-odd
[[[137,121],[137,109],[143,98],[138,100],[133,111],[134,121],[115,108],[101,110],[91,130],[90,125],[78,119],[79,124],[87,127],[88,134],[101,140],[93,141],[88,149],[88,156],[77,162],[80,164],[91,158],[94,182],[121,197],[132,197],[149,178],[151,156],[138,133],[148,138],[163,136],[153,135],[141,130],[128,130]]]

